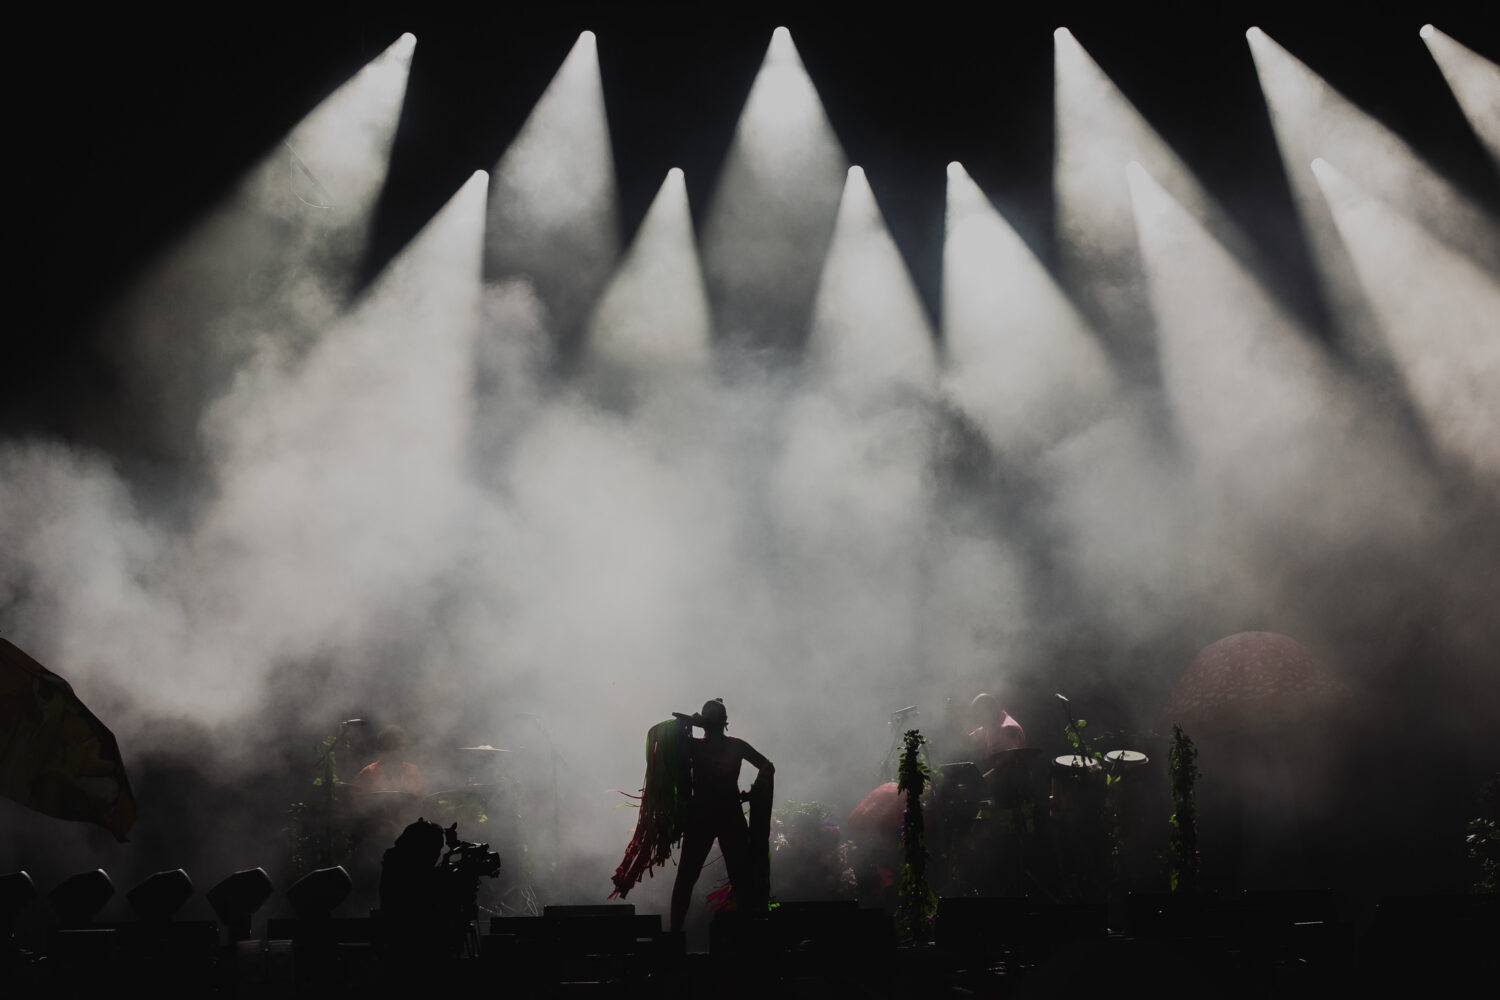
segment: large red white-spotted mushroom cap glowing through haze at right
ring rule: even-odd
[[[1204,646],[1167,699],[1162,720],[1221,732],[1275,727],[1348,697],[1311,649],[1278,633],[1236,633]]]

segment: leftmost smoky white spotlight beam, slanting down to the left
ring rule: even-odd
[[[202,408],[255,340],[274,331],[303,351],[332,319],[364,252],[416,43],[402,34],[309,111],[111,309],[122,447],[200,457]]]

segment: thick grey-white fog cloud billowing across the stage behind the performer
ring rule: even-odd
[[[566,289],[525,273],[524,246],[486,267],[484,220],[518,210],[486,205],[483,177],[352,301],[363,228],[252,184],[249,211],[216,216],[222,238],[184,244],[116,315],[144,330],[118,438],[171,442],[150,475],[130,448],[0,441],[0,633],[108,706],[128,763],[192,748],[204,771],[273,775],[256,784],[270,838],[344,718],[402,723],[434,784],[460,780],[458,747],[506,747],[537,843],[558,817],[562,895],[585,901],[628,837],[610,790],[639,784],[646,729],[710,697],[777,762],[783,799],[843,816],[897,708],[936,729],[946,699],[1005,691],[1050,747],[1066,688],[1148,730],[1191,654],[1248,628],[1296,634],[1356,684],[1420,634],[1434,684],[1492,691],[1496,496],[1431,465],[1392,390],[1322,357],[1172,195],[1137,177],[1132,214],[1112,216],[1149,378],[1110,360],[993,213],[975,246],[1005,247],[1006,294],[982,294],[982,258],[954,258],[980,285],[948,289],[969,312],[939,363],[930,330],[892,324],[926,319],[904,274],[885,280],[898,256],[868,190],[836,219],[844,171],[819,150],[834,189],[772,207],[818,205],[798,252],[830,262],[765,312],[744,298],[754,268],[795,255],[766,250],[778,214],[759,205],[722,202],[708,228],[717,298],[686,216],[652,210],[638,238],[662,243],[560,312]],[[328,193],[356,187],[378,190]],[[722,237],[747,211],[756,280],[740,282]],[[567,219],[549,216],[549,246]],[[332,244],[278,255],[309,226]],[[708,328],[710,300],[734,330]],[[638,312],[668,334],[645,337],[645,366]],[[748,319],[766,315],[808,328]],[[556,364],[560,327],[580,322],[578,364]],[[744,342],[759,334],[777,363]],[[802,343],[806,364],[786,363]],[[1460,733],[1497,721],[1470,708]],[[142,810],[166,838],[153,823]]]

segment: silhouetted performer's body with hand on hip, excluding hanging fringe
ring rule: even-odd
[[[688,742],[693,799],[682,837],[682,855],[678,861],[676,882],[672,883],[672,930],[681,931],[687,918],[687,904],[693,898],[693,885],[704,871],[708,849],[718,841],[729,870],[729,883],[736,891],[759,882],[752,874],[750,838],[746,829],[744,811],[740,805],[740,765],[748,760],[760,777],[776,774],[776,765],[756,753],[742,739],[724,736],[729,712],[723,699],[704,703],[704,711],[690,720],[702,727],[704,738]],[[758,781],[758,784],[760,784]],[[754,846],[765,850],[765,843]],[[764,891],[762,891],[764,892]]]

